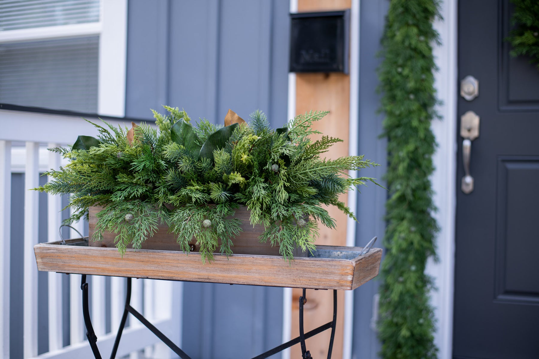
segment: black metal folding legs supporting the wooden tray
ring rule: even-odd
[[[95,335],[94,328],[92,327],[92,320],[90,318],[89,305],[88,305],[88,283],[86,283],[86,274],[82,274],[80,288],[82,290],[82,315],[84,316],[84,323],[86,325],[86,337],[95,359],[101,359],[101,354],[97,346],[98,337]],[[331,351],[333,350],[333,341],[335,339],[335,325],[337,323],[337,290],[333,290],[333,320],[327,322],[326,324],[317,327],[316,329],[310,330],[307,333],[304,333],[303,330],[303,305],[307,302],[305,296],[306,289],[303,288],[303,295],[300,297],[300,310],[299,310],[299,326],[300,326],[300,335],[286,343],[282,343],[280,346],[277,346],[273,349],[269,349],[265,353],[255,356],[252,359],[264,359],[274,354],[279,353],[286,348],[292,347],[294,344],[300,343],[301,345],[301,358],[302,359],[312,359],[309,350],[307,350],[305,345],[305,340],[310,337],[322,333],[324,330],[331,329],[331,336],[329,339],[329,349],[328,349],[328,359],[331,359]],[[174,344],[166,335],[161,333],[154,325],[152,325],[142,314],[137,312],[131,305],[131,278],[127,278],[127,292],[126,292],[126,305],[123,310],[122,320],[120,321],[120,327],[118,328],[118,334],[116,334],[116,340],[114,341],[114,346],[112,348],[112,353],[110,353],[110,359],[116,357],[116,351],[118,350],[118,345],[120,344],[120,338],[122,336],[123,327],[126,325],[127,314],[131,313],[138,319],[144,326],[150,329],[150,332],[154,333],[163,343],[174,351],[182,359],[191,359],[191,357],[180,349],[176,344]]]

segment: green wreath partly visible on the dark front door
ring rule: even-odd
[[[506,39],[513,46],[513,56],[527,56],[530,64],[539,69],[539,2],[536,0],[512,0],[515,4],[512,25]]]

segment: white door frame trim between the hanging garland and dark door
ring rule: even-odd
[[[437,291],[431,292],[431,304],[437,320],[434,343],[439,348],[440,359],[452,358],[453,348],[453,290],[455,256],[455,205],[457,170],[457,2],[441,3],[443,20],[434,23],[442,45],[434,47],[434,58],[439,71],[434,74],[441,121],[434,120],[431,128],[436,136],[438,149],[433,156],[434,173],[432,187],[434,213],[440,231],[436,238],[439,263],[432,259],[425,272],[432,276]]]

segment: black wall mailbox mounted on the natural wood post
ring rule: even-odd
[[[290,72],[348,73],[350,10],[291,13]]]

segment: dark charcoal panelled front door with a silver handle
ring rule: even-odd
[[[478,79],[479,97],[458,114],[481,125],[470,194],[457,137],[454,358],[539,357],[539,71],[510,57],[510,15],[508,0],[459,2],[459,80]]]

